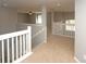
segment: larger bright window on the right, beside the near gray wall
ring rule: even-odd
[[[65,30],[75,31],[75,20],[65,21]]]

